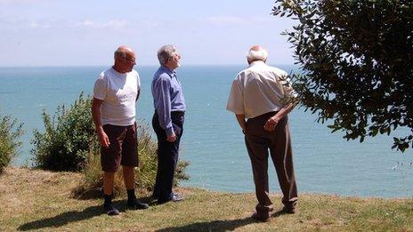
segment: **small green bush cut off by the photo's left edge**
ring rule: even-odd
[[[23,134],[22,127],[23,124],[18,124],[12,116],[4,116],[0,120],[0,173],[18,155],[21,146],[18,139]]]

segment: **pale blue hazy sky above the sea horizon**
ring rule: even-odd
[[[0,66],[109,65],[120,44],[138,65],[175,44],[182,65],[244,64],[261,44],[271,64],[292,64],[279,34],[295,23],[271,16],[273,1],[0,0]]]

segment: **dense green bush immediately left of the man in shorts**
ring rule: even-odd
[[[35,130],[31,141],[36,167],[52,171],[80,171],[85,167],[88,154],[98,146],[91,107],[91,97],[82,92],[69,109],[61,105],[53,117],[43,112],[45,132]]]

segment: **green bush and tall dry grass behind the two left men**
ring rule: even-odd
[[[32,149],[35,166],[53,171],[82,171],[83,183],[74,190],[77,197],[96,196],[96,189],[103,185],[100,159],[100,143],[93,127],[92,98],[83,93],[69,109],[59,106],[53,117],[43,112],[45,132],[35,131]],[[140,165],[135,170],[139,188],[150,190],[155,183],[158,168],[158,145],[152,140],[148,124],[138,127]],[[175,172],[174,185],[188,180],[184,170],[188,162],[180,162]],[[115,175],[115,190],[125,191],[122,172]],[[91,195],[92,194],[92,195]]]

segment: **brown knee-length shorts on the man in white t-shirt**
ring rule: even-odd
[[[101,146],[101,170],[103,172],[117,172],[119,165],[137,167],[138,140],[136,124],[118,126],[105,124],[103,131],[109,137],[109,148]]]

